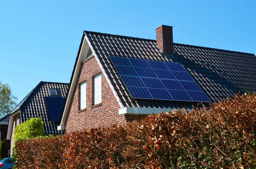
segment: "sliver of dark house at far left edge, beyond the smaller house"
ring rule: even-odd
[[[6,140],[7,137],[7,131],[8,131],[8,124],[9,124],[9,114],[5,115],[0,119],[0,140]],[[7,146],[8,146],[8,152],[11,149],[11,142],[10,140],[6,140]],[[6,152],[6,153],[8,153]]]

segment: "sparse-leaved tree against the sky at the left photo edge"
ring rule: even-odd
[[[12,90],[8,84],[0,81],[0,116],[10,113],[16,105],[17,97],[12,95]]]

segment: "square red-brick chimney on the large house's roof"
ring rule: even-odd
[[[165,56],[173,56],[172,26],[161,25],[157,27],[157,47]]]

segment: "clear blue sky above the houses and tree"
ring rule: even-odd
[[[0,0],[0,81],[20,102],[40,81],[69,83],[83,30],[256,54],[255,0]]]

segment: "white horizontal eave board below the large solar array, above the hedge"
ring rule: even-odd
[[[159,112],[172,112],[175,109],[164,108],[146,108],[146,107],[123,107],[118,109],[118,114],[135,114],[135,115],[150,115],[152,113],[158,114]]]

